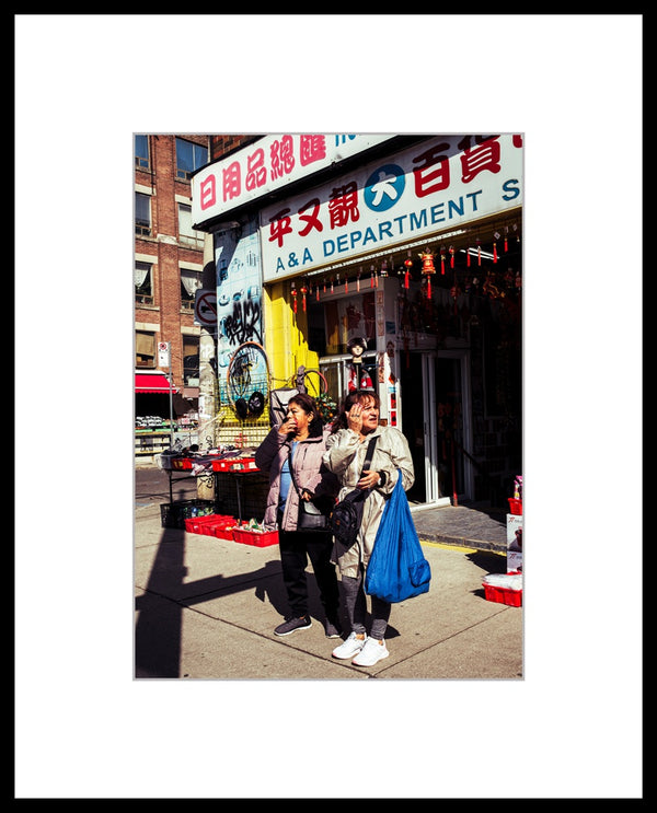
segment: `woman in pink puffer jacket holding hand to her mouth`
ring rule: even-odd
[[[331,532],[303,532],[297,529],[300,500],[313,499],[316,504],[322,500],[330,504],[335,502],[337,478],[322,461],[328,434],[330,430],[324,428],[314,399],[306,393],[299,393],[288,402],[285,420],[269,430],[255,452],[256,466],[269,473],[264,521],[267,525],[278,524],[283,580],[290,608],[284,623],[274,630],[278,636],[308,629],[312,625],[306,577],[309,558],[324,607],[326,637],[339,638],[342,634],[337,574],[331,561]]]

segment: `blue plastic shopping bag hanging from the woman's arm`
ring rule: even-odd
[[[400,471],[374,537],[365,592],[395,603],[427,593],[430,581],[431,568],[417,538]]]

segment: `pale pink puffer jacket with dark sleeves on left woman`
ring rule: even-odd
[[[322,462],[322,455],[326,451],[327,438],[328,430],[324,429],[323,433],[315,438],[299,441],[292,457],[292,471],[297,486],[299,489],[307,488],[315,497],[335,497],[339,488],[337,477]],[[269,491],[264,516],[266,525],[274,525],[276,522],[280,495],[280,469],[291,449],[291,441],[288,440],[287,435],[279,433],[278,427],[274,427],[255,452],[255,465],[261,472],[268,472],[269,474]],[[298,515],[299,493],[293,485],[290,485],[283,514],[281,530],[296,531]]]

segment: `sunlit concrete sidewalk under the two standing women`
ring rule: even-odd
[[[487,573],[506,572],[506,557],[496,553],[505,526],[499,536],[495,520],[479,513],[414,512],[431,588],[393,606],[390,657],[361,669],[331,657],[339,641],[324,636],[312,577],[312,627],[274,635],[287,611],[277,545],[257,548],[163,529],[159,503],[138,502],[135,677],[520,680],[522,608],[486,601],[482,586]],[[488,548],[465,546],[468,533],[482,530],[485,538],[477,542]]]

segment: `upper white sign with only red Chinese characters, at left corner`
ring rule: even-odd
[[[203,230],[209,220],[391,138],[394,136],[265,136],[192,177],[194,228]]]

